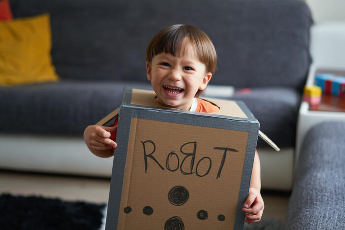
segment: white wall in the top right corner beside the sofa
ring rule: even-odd
[[[328,20],[345,21],[345,0],[305,0],[315,23]]]

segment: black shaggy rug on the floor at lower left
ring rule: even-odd
[[[0,196],[0,229],[99,230],[105,204],[58,198]]]

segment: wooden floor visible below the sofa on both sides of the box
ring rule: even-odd
[[[109,187],[110,179],[104,178],[0,171],[0,194],[36,195],[106,203]],[[263,191],[262,196],[265,202],[263,217],[275,217],[284,222],[289,194]]]

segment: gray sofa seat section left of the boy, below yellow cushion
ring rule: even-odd
[[[82,135],[122,102],[125,86],[148,83],[76,82],[0,87],[0,132]]]

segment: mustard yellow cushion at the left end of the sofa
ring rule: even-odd
[[[49,14],[0,22],[0,85],[58,81]]]

